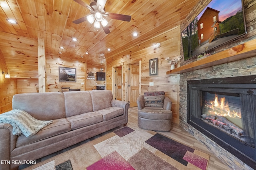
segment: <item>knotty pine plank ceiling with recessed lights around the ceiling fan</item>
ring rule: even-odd
[[[93,0],[82,1],[90,4]],[[132,20],[107,18],[110,33],[105,34],[102,28],[94,31],[88,21],[72,23],[90,14],[73,0],[0,0],[0,50],[10,71],[36,71],[38,38],[44,39],[47,54],[83,56],[87,64],[106,66],[106,58],[180,25],[198,1],[107,0],[106,12],[130,15]],[[132,36],[134,32],[137,37]]]

